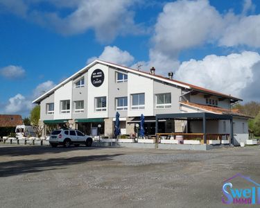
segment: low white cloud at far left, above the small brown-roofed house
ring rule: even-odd
[[[7,114],[22,114],[24,112],[28,112],[33,107],[31,101],[28,101],[21,94],[17,94],[16,96],[9,98],[8,103],[5,107],[5,112]]]

